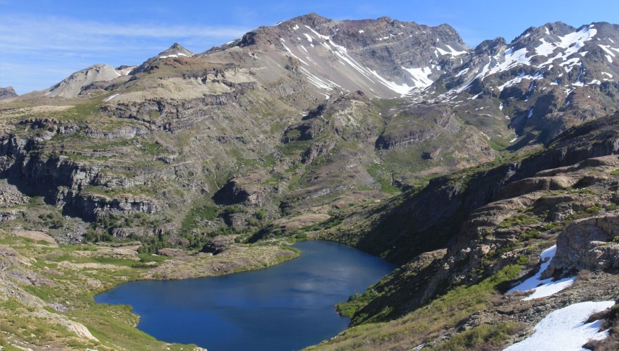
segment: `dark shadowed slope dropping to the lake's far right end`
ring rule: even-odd
[[[619,114],[570,129],[550,143],[550,149],[517,162],[488,170],[475,168],[431,180],[417,193],[402,195],[371,211],[367,226],[354,231],[354,244],[394,262],[404,263],[453,240],[470,213],[489,202],[521,193],[559,189],[572,184],[543,177],[525,180],[545,169],[619,153]],[[358,217],[351,217],[351,221]],[[341,228],[339,231],[342,231]],[[349,237],[344,231],[343,238]]]

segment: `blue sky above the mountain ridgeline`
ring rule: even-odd
[[[470,46],[530,26],[619,23],[619,1],[61,1],[0,0],[0,87],[45,89],[94,65],[135,65],[175,41],[202,52],[261,25],[316,12],[332,19],[389,16],[449,23]]]

